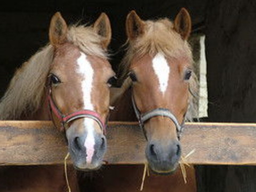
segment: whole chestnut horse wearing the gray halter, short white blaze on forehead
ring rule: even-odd
[[[122,61],[121,81],[129,78],[119,91],[123,96],[117,99],[111,120],[139,121],[147,139],[146,157],[150,169],[158,174],[169,174],[147,177],[143,191],[196,191],[193,167],[187,169],[187,184],[183,182],[180,169],[174,173],[181,156],[183,123],[195,117],[197,106],[193,97],[197,92],[193,58],[187,43],[190,31],[191,20],[186,9],[181,9],[174,22],[169,19],[143,21],[135,11],[126,18],[128,46]],[[113,99],[118,96],[115,92]],[[115,174],[110,169],[104,174],[105,178],[110,178],[106,191],[120,188],[137,191],[142,167],[118,166]],[[111,180],[119,183],[118,187]]]

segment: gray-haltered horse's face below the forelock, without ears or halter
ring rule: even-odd
[[[186,60],[165,58],[158,53],[134,59],[131,66],[133,95],[138,109],[146,113],[169,109],[181,124],[188,107],[188,80],[191,70]],[[146,156],[151,169],[159,173],[176,169],[181,155],[177,127],[167,117],[156,116],[144,124],[148,140]]]

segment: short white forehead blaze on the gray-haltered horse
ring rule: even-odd
[[[159,89],[164,94],[168,86],[170,67],[163,54],[157,53],[152,60],[153,69],[158,78]]]

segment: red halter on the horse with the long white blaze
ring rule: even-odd
[[[99,125],[100,128],[103,131],[103,134],[106,132],[106,124],[105,121],[102,120],[100,114],[98,114],[96,111],[93,110],[79,110],[75,111],[74,113],[68,114],[68,115],[63,115],[59,108],[55,105],[53,99],[52,99],[52,94],[51,94],[51,88],[49,90],[49,95],[48,95],[48,103],[49,103],[49,108],[50,108],[50,114],[52,112],[54,115],[60,120],[61,122],[61,130],[65,129],[65,125],[71,121],[74,121],[75,119],[78,118],[92,118],[94,121],[96,121]]]

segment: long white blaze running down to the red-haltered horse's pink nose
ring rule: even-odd
[[[81,74],[84,79],[82,81],[82,93],[84,108],[93,110],[91,92],[93,81],[93,68],[91,63],[86,59],[86,55],[81,52],[81,56],[77,59],[78,69],[77,72]],[[86,148],[86,163],[91,163],[94,154],[94,120],[91,118],[84,118],[84,127],[86,127],[87,136],[85,138],[84,146]]]

